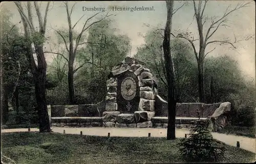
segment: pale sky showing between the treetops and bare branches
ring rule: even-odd
[[[205,8],[205,15],[209,17],[220,17],[226,11],[227,7],[232,9],[236,4],[246,2],[246,1],[209,1]],[[22,2],[23,3],[23,2]],[[75,2],[69,2],[70,8]],[[175,1],[174,9],[183,4],[184,1]],[[26,3],[23,3],[24,5]],[[45,13],[46,2],[38,2],[40,4],[41,12]],[[22,26],[18,24],[21,20],[20,15],[16,9],[13,2],[2,2],[1,8],[8,8],[12,13],[12,22],[17,24],[17,26]],[[105,12],[97,15],[92,19],[92,22],[98,20],[104,16],[109,10],[109,14],[116,14],[111,18],[114,20],[113,26],[119,29],[118,33],[125,34],[131,38],[132,51],[131,56],[135,55],[137,52],[137,47],[144,43],[144,38],[139,35],[139,33],[145,34],[149,27],[144,24],[150,25],[150,27],[164,28],[166,21],[166,4],[164,1],[95,1],[95,2],[76,2],[74,6],[73,13],[71,15],[72,24],[82,16],[84,17],[79,21],[75,30],[80,31],[84,21],[89,17],[96,14],[98,11],[83,11],[85,8],[105,8]],[[113,11],[113,7],[153,7],[153,11]],[[24,9],[25,6],[24,6]],[[68,27],[67,13],[65,7],[63,7],[63,2],[51,2],[50,11],[47,19],[47,33],[46,36],[50,36],[54,41],[56,36],[54,35],[53,29],[61,29]],[[35,13],[34,13],[35,15]],[[193,36],[198,38],[197,24],[196,20],[193,19],[194,16],[194,6],[193,2],[189,3],[182,8],[180,8],[173,16],[173,27],[172,31],[177,34],[177,30],[182,32],[191,32]],[[255,2],[251,1],[249,7],[242,8],[228,17],[227,28],[220,27],[215,33],[212,40],[223,40],[230,39],[234,40],[234,34],[237,40],[244,38],[246,36],[254,35],[253,39],[247,41],[241,41],[236,44],[237,49],[232,50],[227,45],[219,45],[216,47],[215,51],[212,51],[208,56],[219,56],[219,55],[229,55],[236,59],[244,75],[250,76],[255,79]],[[34,17],[35,25],[38,24],[36,17]],[[208,21],[205,23],[205,30],[209,27]],[[51,43],[50,43],[51,44]],[[198,43],[195,43],[198,49]],[[218,45],[218,44],[215,44]],[[50,45],[47,45],[50,46]],[[213,49],[215,46],[209,46],[206,52]],[[130,55],[130,54],[129,54]],[[51,62],[53,58],[52,54],[46,54],[46,59]]]

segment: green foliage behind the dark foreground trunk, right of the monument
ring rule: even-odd
[[[152,29],[144,36],[145,44],[138,48],[135,58],[146,63],[154,76],[158,79],[158,93],[167,100],[167,83],[162,53],[163,38],[161,31]],[[173,38],[170,42],[174,76],[175,89],[178,102],[193,102],[197,96],[197,64],[190,48],[184,40]]]

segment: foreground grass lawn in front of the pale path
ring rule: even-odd
[[[17,132],[2,134],[2,153],[16,163],[181,163],[179,142],[179,138]],[[226,146],[225,157],[221,162],[255,160],[254,153],[231,146]]]

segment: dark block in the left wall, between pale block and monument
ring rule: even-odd
[[[96,104],[78,105],[78,116],[100,116]]]

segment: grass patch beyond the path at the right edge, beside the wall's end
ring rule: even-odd
[[[225,134],[234,134],[234,135],[243,135],[250,138],[255,138],[255,129],[256,127],[242,127],[242,126],[226,126],[218,133],[225,133]]]

